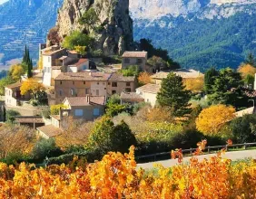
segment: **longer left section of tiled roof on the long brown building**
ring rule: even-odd
[[[63,72],[59,74],[56,81],[108,81],[111,74],[99,71]]]

